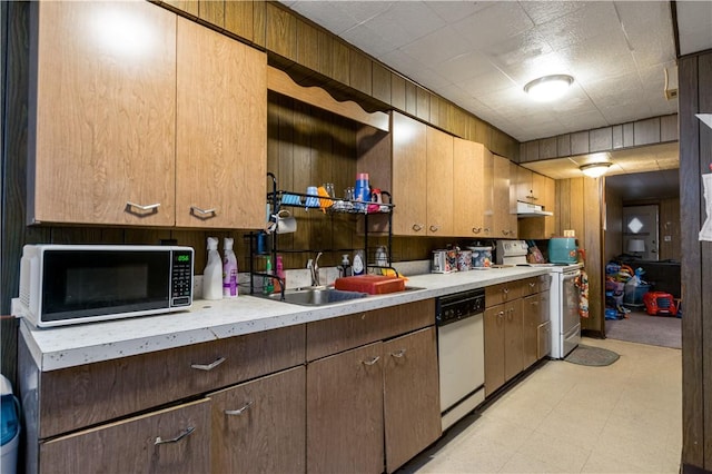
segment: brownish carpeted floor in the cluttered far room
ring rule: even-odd
[[[681,349],[682,319],[674,316],[650,316],[644,310],[634,310],[624,319],[606,319],[605,337]]]

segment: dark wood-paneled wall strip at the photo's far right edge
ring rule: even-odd
[[[682,253],[682,471],[712,471],[712,243],[699,233],[710,206],[712,130],[694,115],[712,112],[712,51],[680,58],[680,209]]]

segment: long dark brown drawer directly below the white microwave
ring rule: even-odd
[[[40,373],[39,437],[303,364],[304,332],[289,326]]]

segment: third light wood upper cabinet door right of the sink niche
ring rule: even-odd
[[[453,169],[453,235],[481,237],[485,227],[484,145],[455,138]]]

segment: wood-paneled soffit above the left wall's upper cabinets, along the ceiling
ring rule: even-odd
[[[225,34],[265,49],[273,66],[339,100],[395,109],[518,161],[520,144],[455,103],[390,70],[277,2],[151,0]]]

